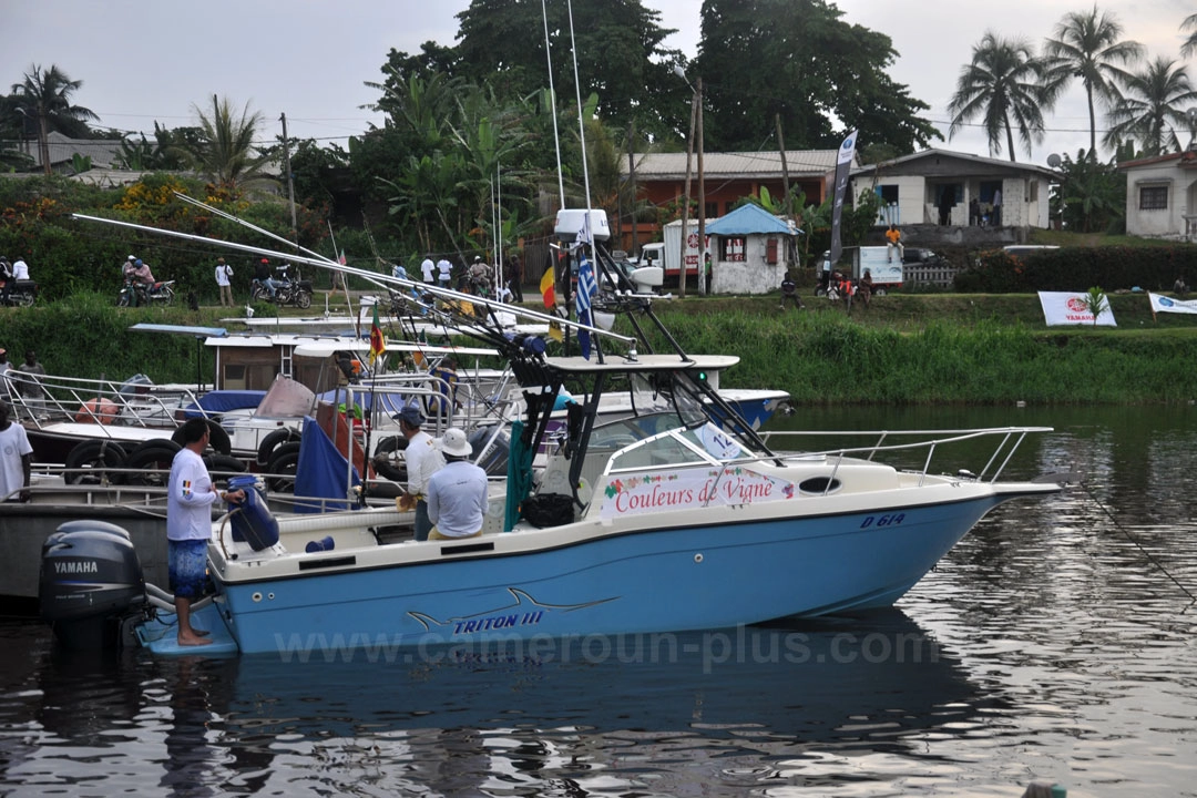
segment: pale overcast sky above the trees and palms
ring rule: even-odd
[[[551,0],[560,2],[561,0]],[[578,0],[585,2],[587,0]],[[192,124],[193,104],[212,93],[238,105],[250,103],[268,124],[263,139],[280,132],[339,141],[377,121],[359,108],[377,99],[363,85],[379,81],[391,49],[415,53],[421,42],[452,44],[455,14],[469,0],[2,0],[4,44],[0,81],[19,83],[30,65],[57,65],[84,81],[75,102],[121,130]],[[667,44],[694,57],[700,0],[644,0],[661,11],[661,24],[678,29]],[[1039,45],[1070,11],[1086,0],[840,0],[850,23],[882,31],[899,53],[892,78],[931,106],[928,118],[944,134],[946,105],[956,78],[986,30],[1025,36]],[[1197,11],[1193,0],[1107,0],[1125,35],[1149,55],[1179,59],[1180,22]],[[530,31],[530,37],[541,36]],[[751,56],[749,56],[751,57]],[[1187,61],[1197,83],[1197,59]],[[564,93],[564,87],[558,87]],[[1074,86],[1047,116],[1049,134],[1028,158],[1041,164],[1051,152],[1087,146],[1083,92]],[[1099,120],[1099,128],[1100,128]],[[1181,135],[1181,141],[1187,141]],[[867,142],[862,142],[867,144]],[[974,129],[936,146],[988,154]]]

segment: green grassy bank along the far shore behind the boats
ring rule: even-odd
[[[1033,294],[889,294],[847,317],[804,297],[661,301],[658,313],[688,352],[739,355],[728,388],[779,388],[818,403],[1181,403],[1197,398],[1197,316],[1153,319],[1147,298],[1111,298],[1117,328],[1046,328]],[[32,309],[0,309],[10,360],[32,347],[48,371],[154,382],[196,378],[188,335],[132,333],[138,322],[219,327],[219,307],[117,309],[79,294]],[[657,340],[655,346],[662,347]],[[212,355],[199,354],[212,373]]]

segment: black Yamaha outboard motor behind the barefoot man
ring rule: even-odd
[[[69,648],[108,648],[141,616],[146,585],[129,534],[102,520],[72,520],[42,544],[42,620]]]

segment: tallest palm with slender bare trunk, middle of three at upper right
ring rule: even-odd
[[[1098,96],[1106,106],[1118,102],[1118,83],[1125,83],[1128,73],[1118,65],[1129,65],[1143,56],[1138,42],[1122,42],[1122,25],[1111,14],[1092,11],[1074,11],[1064,14],[1056,24],[1056,38],[1044,45],[1047,61],[1046,83],[1061,91],[1073,78],[1084,84],[1089,104],[1089,157],[1098,158],[1098,122],[1093,112],[1093,97]]]

